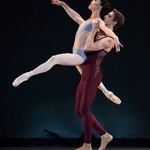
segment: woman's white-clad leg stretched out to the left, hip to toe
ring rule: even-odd
[[[84,62],[84,59],[78,54],[58,54],[52,56],[48,61],[41,64],[32,71],[20,75],[14,80],[12,85],[17,87],[22,82],[27,81],[31,76],[49,71],[54,65],[77,66]]]

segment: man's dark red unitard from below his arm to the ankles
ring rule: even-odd
[[[88,52],[87,60],[81,65],[82,77],[77,88],[75,112],[83,119],[85,143],[91,143],[92,129],[95,129],[100,135],[106,133],[90,111],[97,88],[102,81],[100,65],[106,54],[104,50]]]

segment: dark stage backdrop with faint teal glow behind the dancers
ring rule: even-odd
[[[84,19],[89,0],[66,0]],[[126,17],[117,31],[124,45],[105,59],[103,82],[120,106],[97,92],[92,111],[115,138],[150,138],[149,6],[147,0],[111,0]],[[52,55],[71,53],[78,25],[49,0],[6,0],[0,4],[0,138],[47,138],[53,133],[78,138],[75,115],[80,75],[75,67],[55,66],[14,88],[12,81]],[[97,133],[93,132],[98,137]]]

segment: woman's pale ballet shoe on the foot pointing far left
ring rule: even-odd
[[[18,78],[16,78],[16,79],[13,81],[12,85],[13,85],[14,87],[17,87],[17,86],[19,86],[22,82],[27,81],[30,77],[31,77],[31,72],[26,72],[26,73],[20,75]]]

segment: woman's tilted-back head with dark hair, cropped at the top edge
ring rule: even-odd
[[[110,8],[110,2],[108,0],[92,0],[89,9],[90,10],[106,10]]]

